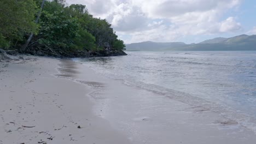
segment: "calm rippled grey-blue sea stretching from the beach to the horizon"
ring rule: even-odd
[[[256,51],[127,54],[78,61],[125,85],[203,106],[256,131]]]

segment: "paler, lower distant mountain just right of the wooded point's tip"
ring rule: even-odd
[[[185,46],[185,43],[156,43],[153,41],[144,41],[141,43],[126,44],[126,50],[132,51],[155,51],[155,50],[168,50],[175,47]]]

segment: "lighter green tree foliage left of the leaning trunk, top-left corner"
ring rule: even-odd
[[[33,0],[0,1],[0,45],[8,47],[14,41],[22,40],[26,33],[37,33],[34,23],[37,5]]]

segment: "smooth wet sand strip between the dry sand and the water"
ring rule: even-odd
[[[238,144],[256,141],[252,130],[217,112],[125,85],[123,79],[109,79],[94,71],[91,64],[76,62],[80,70],[77,79],[104,84],[92,95],[95,112],[113,127],[123,130],[132,143]]]

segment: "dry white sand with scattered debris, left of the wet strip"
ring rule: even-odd
[[[0,143],[129,143],[92,113],[88,87],[53,75],[58,59],[24,58],[0,63]]]

